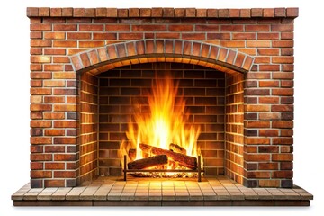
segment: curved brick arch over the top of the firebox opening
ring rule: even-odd
[[[254,61],[245,53],[193,40],[131,40],[77,53],[70,59],[75,71],[89,71],[94,75],[115,67],[148,62],[178,62],[226,73],[244,73]]]

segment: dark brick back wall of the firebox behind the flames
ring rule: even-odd
[[[148,112],[148,92],[155,79],[174,77],[178,96],[189,111],[188,123],[200,125],[206,175],[224,174],[225,74],[207,67],[178,63],[139,64],[118,67],[99,76],[99,173],[121,175],[121,140],[140,104]],[[149,144],[149,143],[148,143]]]

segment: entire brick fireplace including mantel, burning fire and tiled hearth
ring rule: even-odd
[[[31,182],[14,205],[310,204],[293,184],[298,8],[27,16]]]

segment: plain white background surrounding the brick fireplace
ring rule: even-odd
[[[320,215],[323,172],[323,11],[321,1],[11,0],[0,3],[0,215]],[[29,182],[29,19],[27,6],[50,7],[299,7],[295,20],[294,184],[313,193],[309,208],[14,208],[11,195]]]

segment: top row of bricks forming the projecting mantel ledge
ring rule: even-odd
[[[49,8],[28,7],[28,17],[89,18],[296,18],[298,8],[196,9],[196,8]]]

